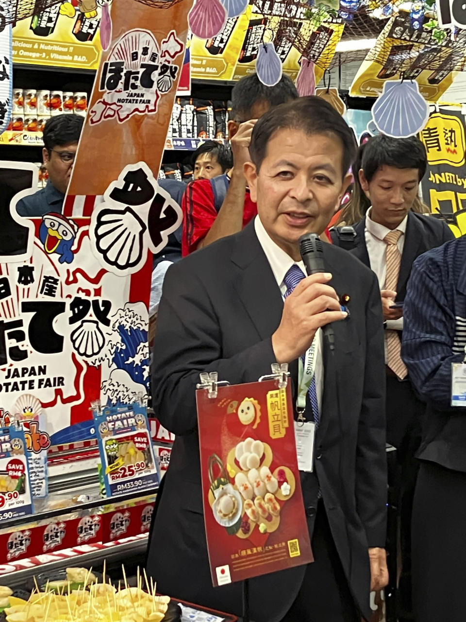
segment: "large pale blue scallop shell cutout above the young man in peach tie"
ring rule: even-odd
[[[417,82],[391,80],[372,106],[372,118],[379,132],[393,138],[414,136],[429,118],[429,104],[419,93]]]

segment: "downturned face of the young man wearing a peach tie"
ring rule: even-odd
[[[418,196],[419,170],[382,166],[370,182],[359,171],[361,187],[372,203],[370,217],[375,223],[395,229]]]

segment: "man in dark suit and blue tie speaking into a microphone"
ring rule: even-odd
[[[241,586],[212,588],[199,473],[195,387],[232,384],[298,359],[316,366],[301,417],[318,425],[313,471],[301,471],[313,564],[250,580],[255,622],[360,622],[385,585],[383,328],[375,275],[324,244],[328,273],[304,277],[298,240],[321,234],[349,183],[354,139],[320,98],[265,114],[244,171],[258,217],[170,267],[158,312],[152,395],[176,434],[152,523],[147,569],[163,593],[241,614]],[[331,283],[331,284],[330,284]],[[339,292],[337,294],[336,292]],[[340,307],[347,294],[350,315]],[[331,351],[321,327],[332,323]]]

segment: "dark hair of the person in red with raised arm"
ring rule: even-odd
[[[268,103],[272,107],[297,98],[296,86],[287,75],[283,74],[280,82],[275,86],[265,86],[257,74],[252,73],[250,76],[241,78],[233,87],[231,118],[243,123],[252,118],[252,108],[255,104]]]

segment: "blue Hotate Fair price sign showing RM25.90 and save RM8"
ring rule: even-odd
[[[94,410],[107,496],[152,488],[160,482],[144,406]]]

